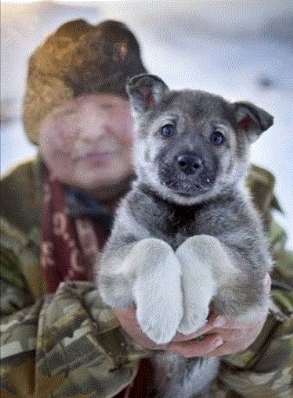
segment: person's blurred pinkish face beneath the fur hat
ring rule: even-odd
[[[95,190],[132,173],[129,101],[87,94],[56,108],[40,128],[40,153],[54,178]]]

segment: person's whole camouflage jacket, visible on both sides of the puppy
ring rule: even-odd
[[[90,282],[44,294],[39,261],[41,179],[25,162],[1,180],[1,397],[108,398],[129,385],[149,352],[123,332],[113,313],[91,302]],[[274,179],[253,167],[249,188],[268,228],[276,263],[272,306],[245,352],[224,357],[216,398],[293,396],[293,253],[271,217]]]

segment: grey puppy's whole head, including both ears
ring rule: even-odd
[[[127,83],[135,118],[138,179],[170,201],[192,205],[243,179],[248,149],[273,117],[248,102],[169,90],[157,76]]]

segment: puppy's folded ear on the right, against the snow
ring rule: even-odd
[[[234,106],[238,128],[247,133],[250,142],[273,125],[273,116],[250,102],[235,102]]]

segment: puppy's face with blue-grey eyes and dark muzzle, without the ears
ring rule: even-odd
[[[140,115],[134,158],[141,181],[164,197],[193,204],[214,195],[227,178],[236,178],[246,145],[239,142],[237,151],[224,105],[206,94],[179,92]]]

